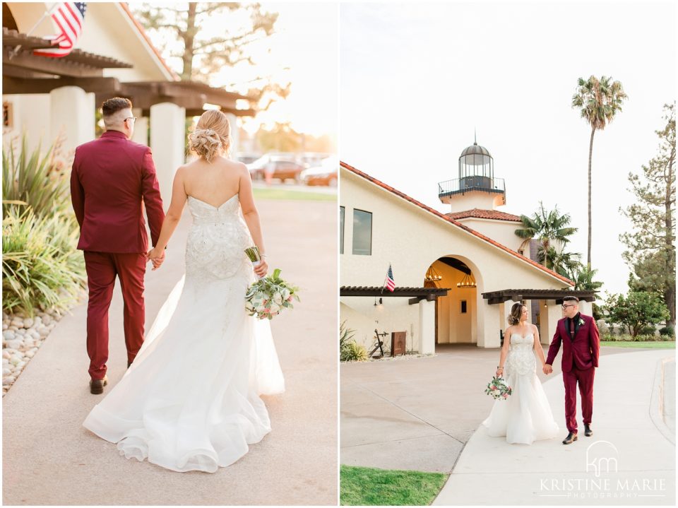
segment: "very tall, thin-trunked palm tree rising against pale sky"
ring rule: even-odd
[[[591,76],[588,80],[579,78],[577,91],[572,96],[572,107],[581,110],[581,117],[591,126],[591,141],[588,146],[588,247],[586,266],[591,268],[591,156],[593,155],[593,134],[605,129],[614,116],[622,111],[622,102],[627,98],[622,83],[602,76],[600,80]]]

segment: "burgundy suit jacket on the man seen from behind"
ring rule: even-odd
[[[160,236],[160,187],[150,148],[119,131],[76,148],[71,171],[71,202],[80,224],[78,249],[94,252],[147,252]]]

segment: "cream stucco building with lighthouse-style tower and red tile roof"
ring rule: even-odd
[[[449,213],[341,165],[340,321],[368,351],[375,329],[389,333],[387,345],[391,332],[405,331],[407,349],[422,354],[445,343],[499,347],[515,301],[538,302],[542,343],[564,295],[578,296],[590,314],[593,292],[572,291],[571,280],[530,259],[515,234],[520,219],[494,209],[506,190],[485,148],[464,150],[459,178],[441,182],[439,196]],[[381,290],[389,264],[393,293]]]

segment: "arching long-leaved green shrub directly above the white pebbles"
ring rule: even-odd
[[[8,207],[2,221],[2,308],[29,315],[36,308],[66,309],[86,283],[75,220],[20,208]]]

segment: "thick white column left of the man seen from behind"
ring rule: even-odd
[[[64,155],[92,141],[95,133],[95,95],[77,86],[62,86],[49,93],[50,140],[65,135]],[[47,141],[47,140],[46,140]]]

